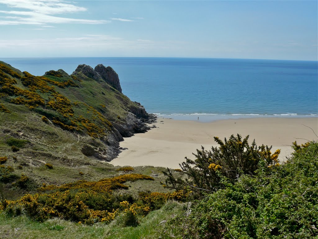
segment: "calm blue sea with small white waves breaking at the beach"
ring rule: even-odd
[[[2,58],[42,76],[79,64],[111,66],[122,93],[149,113],[177,120],[317,117],[318,62],[156,57]]]

